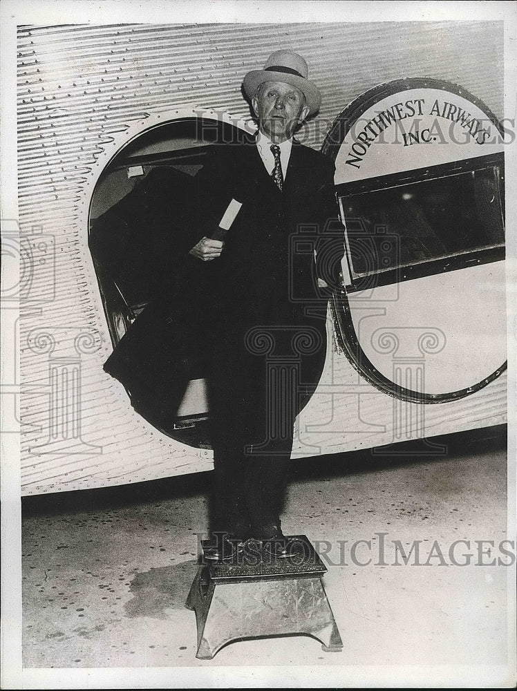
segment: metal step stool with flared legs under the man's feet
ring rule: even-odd
[[[243,638],[295,634],[317,638],[326,652],[341,652],[323,588],[326,566],[305,535],[288,539],[296,549],[289,558],[275,558],[261,542],[249,541],[232,560],[199,567],[185,603],[196,612],[198,659],[211,660],[223,645]]]

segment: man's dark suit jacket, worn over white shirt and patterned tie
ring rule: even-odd
[[[321,301],[317,273],[328,270],[314,264],[314,249],[324,259],[327,222],[336,216],[333,174],[332,160],[294,140],[280,192],[254,138],[214,147],[196,176],[195,214],[185,225],[189,242],[210,236],[230,200],[242,202],[223,254],[196,267],[228,319],[267,323],[269,307],[289,303],[296,320],[304,302]]]

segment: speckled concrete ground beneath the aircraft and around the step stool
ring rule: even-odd
[[[340,653],[289,636],[196,659],[185,598],[210,473],[23,500],[24,667],[505,664],[505,428],[433,442],[448,453],[400,444],[392,456],[294,462],[283,527],[306,533],[326,562]],[[450,551],[455,540],[467,544]],[[492,540],[490,553],[476,540]]]

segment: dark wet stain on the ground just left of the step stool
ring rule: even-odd
[[[192,559],[136,574],[129,591],[133,598],[124,605],[127,617],[167,618],[167,609],[183,609],[198,563]]]

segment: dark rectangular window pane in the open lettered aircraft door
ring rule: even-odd
[[[352,278],[502,247],[497,166],[343,196]]]

